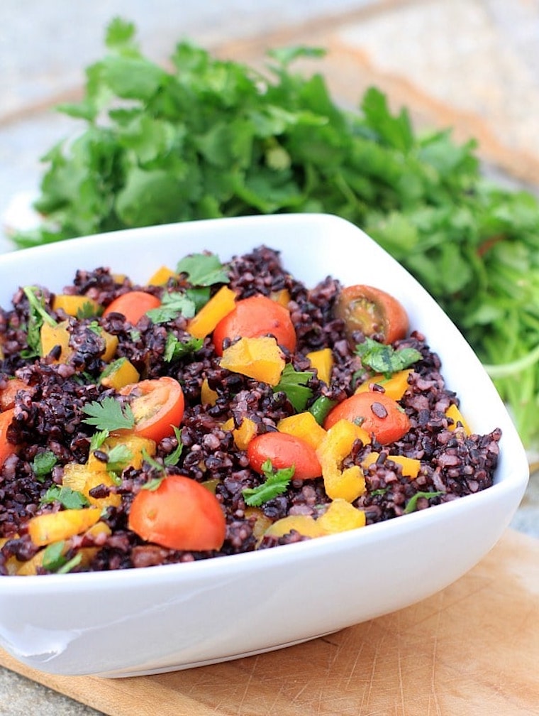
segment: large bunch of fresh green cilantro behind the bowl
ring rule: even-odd
[[[41,226],[17,246],[253,213],[322,211],[370,234],[425,286],[472,344],[527,445],[539,437],[539,201],[490,182],[475,142],[419,135],[376,87],[356,111],[321,74],[266,72],[180,42],[164,69],[114,19],[86,69],[83,122],[44,157]]]

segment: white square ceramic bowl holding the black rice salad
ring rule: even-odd
[[[126,677],[297,644],[425,599],[485,556],[528,482],[518,434],[478,358],[410,274],[351,223],[320,214],[252,216],[78,238],[0,257],[0,304],[36,282],[109,266],[144,282],[206,248],[226,260],[266,244],[309,286],[331,274],[405,304],[442,359],[475,432],[503,430],[491,488],[334,536],[147,569],[0,578],[0,644],[54,674]]]

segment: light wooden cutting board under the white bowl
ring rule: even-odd
[[[539,540],[509,530],[440,594],[257,657],[114,680],[0,664],[109,716],[539,715]]]

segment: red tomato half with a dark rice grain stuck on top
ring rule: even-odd
[[[361,425],[382,445],[400,440],[410,430],[410,419],[396,400],[374,390],[355,393],[331,410],[324,422],[329,430],[338,420]]]

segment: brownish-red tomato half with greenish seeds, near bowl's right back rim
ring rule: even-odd
[[[404,306],[385,291],[374,286],[347,286],[335,303],[335,316],[345,321],[349,339],[354,331],[365,336],[380,334],[390,344],[405,338],[409,321]]]

